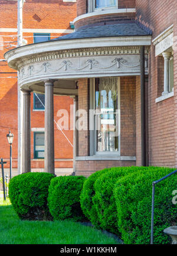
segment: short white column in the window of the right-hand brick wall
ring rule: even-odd
[[[162,95],[169,93],[169,60],[171,59],[171,53],[162,53],[164,58],[164,90]]]

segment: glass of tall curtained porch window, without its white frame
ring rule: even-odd
[[[117,78],[96,79],[96,150],[119,151]]]

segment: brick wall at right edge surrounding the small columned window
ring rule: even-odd
[[[136,0],[136,9],[137,20],[152,29],[152,39],[176,20],[176,2],[173,0]],[[174,53],[176,54],[175,51]],[[162,57],[155,57],[153,44],[149,54],[149,74],[149,165],[173,167],[175,166],[174,125],[176,118],[174,115],[174,98],[159,103],[155,102],[155,99],[163,91],[163,60]]]

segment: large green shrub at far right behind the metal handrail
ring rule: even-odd
[[[174,169],[149,167],[148,170],[130,174],[117,180],[114,197],[117,206],[117,225],[125,244],[149,244],[152,205],[152,182],[166,176]],[[156,185],[155,193],[155,243],[169,242],[163,229],[174,225],[176,206],[172,205],[172,191],[176,189],[177,176]]]

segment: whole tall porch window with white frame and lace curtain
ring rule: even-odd
[[[92,81],[90,154],[120,155],[120,79],[101,77]]]

